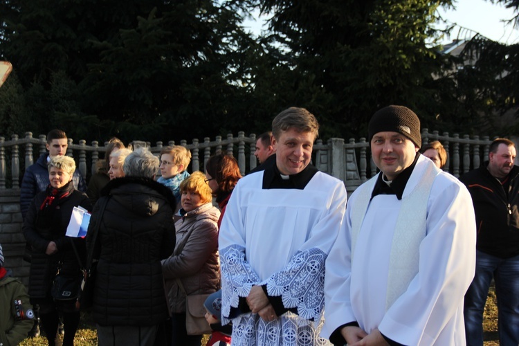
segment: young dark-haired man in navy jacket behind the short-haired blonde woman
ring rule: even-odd
[[[24,179],[21,181],[20,210],[22,217],[25,217],[30,201],[33,200],[38,192],[45,191],[50,183],[48,180],[48,161],[53,156],[65,155],[68,146],[68,140],[64,131],[53,129],[47,134],[46,147],[48,154],[42,154],[36,163],[27,167]],[[74,172],[73,181],[76,190],[86,192],[86,183],[81,172],[77,169]]]

